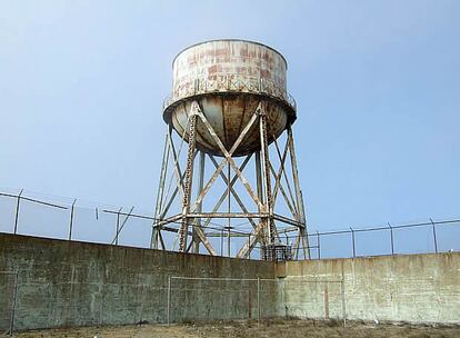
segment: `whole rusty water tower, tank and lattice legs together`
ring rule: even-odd
[[[287,68],[274,49],[236,39],[176,57],[152,248],[309,258]],[[210,193],[218,181],[222,191]]]

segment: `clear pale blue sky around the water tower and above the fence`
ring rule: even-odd
[[[152,210],[171,61],[289,62],[314,229],[460,216],[460,1],[0,0],[0,186]]]

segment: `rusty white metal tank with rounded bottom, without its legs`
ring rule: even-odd
[[[172,63],[173,88],[164,101],[163,119],[183,136],[191,103],[197,101],[230,149],[259,102],[263,102],[272,142],[296,120],[296,102],[287,91],[287,67],[281,53],[258,42],[226,39],[193,44]],[[222,156],[201,121],[197,126],[197,148]],[[233,156],[258,150],[260,133],[254,125]]]

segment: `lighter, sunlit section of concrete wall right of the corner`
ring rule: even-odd
[[[296,261],[286,276],[289,316],[342,318],[343,278],[349,319],[460,324],[460,252]]]

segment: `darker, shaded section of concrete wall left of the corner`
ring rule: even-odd
[[[269,262],[0,233],[0,271],[18,271],[18,330],[166,322],[169,276],[273,278],[273,269]],[[11,297],[2,282],[0,298]],[[208,290],[194,290],[200,288]],[[171,321],[248,318],[249,311],[254,318],[256,289],[257,282],[173,280]],[[261,289],[262,314],[277,315],[277,284]],[[0,308],[0,318],[9,310]]]

